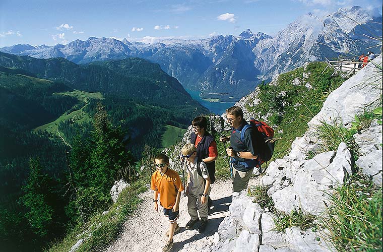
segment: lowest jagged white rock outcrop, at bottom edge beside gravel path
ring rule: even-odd
[[[233,193],[230,215],[218,227],[216,251],[334,251],[317,231],[287,228],[284,234],[274,231],[275,215],[263,210],[246,191]]]

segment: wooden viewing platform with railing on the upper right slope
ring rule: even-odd
[[[356,72],[358,72],[361,67],[363,66],[362,62],[356,62],[355,57],[354,58],[338,58],[338,60],[329,60],[325,57],[325,62],[327,63],[327,67],[322,72],[322,74],[328,69],[329,67],[333,68],[335,71],[331,76],[334,76],[336,74],[339,74],[343,78],[350,77]],[[358,65],[361,65],[360,68],[358,68]],[[367,63],[364,63],[367,64]]]

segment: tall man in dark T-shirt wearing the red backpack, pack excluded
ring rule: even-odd
[[[258,143],[264,142],[259,134],[254,134],[256,129],[250,127],[244,133],[244,141],[241,141],[241,130],[244,125],[248,124],[243,119],[242,109],[233,106],[226,109],[227,122],[232,127],[229,137],[222,136],[221,142],[230,140],[230,147],[226,149],[226,153],[231,158],[233,164],[233,192],[240,192],[247,188],[248,181],[258,158]]]

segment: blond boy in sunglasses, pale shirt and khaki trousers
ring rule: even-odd
[[[206,228],[208,220],[208,198],[210,193],[210,177],[209,171],[204,161],[197,157],[197,149],[194,144],[185,144],[182,148],[182,156],[185,160],[183,169],[187,171],[187,212],[190,215],[190,220],[185,228],[192,229],[200,218],[201,222],[198,231],[202,233]]]

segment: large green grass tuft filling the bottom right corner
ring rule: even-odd
[[[331,205],[322,223],[338,251],[382,250],[381,190],[365,175],[355,174],[329,195]]]

